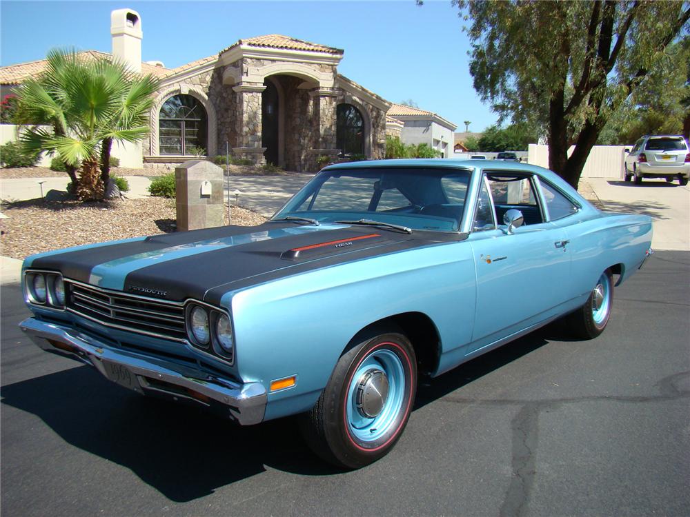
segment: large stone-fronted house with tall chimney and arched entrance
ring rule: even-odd
[[[384,156],[391,103],[338,73],[339,48],[269,34],[168,69],[141,62],[136,11],[113,11],[110,33],[113,56],[161,80],[148,139],[113,150],[122,165],[179,163],[200,149],[225,154],[226,142],[236,158],[297,171],[315,170],[319,156]],[[3,94],[44,66],[0,68]]]

